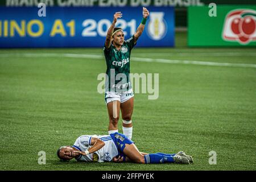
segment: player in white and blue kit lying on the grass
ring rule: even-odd
[[[121,133],[82,135],[73,146],[60,147],[57,156],[63,161],[75,158],[79,162],[193,163],[192,156],[183,151],[177,154],[139,152],[134,142]]]

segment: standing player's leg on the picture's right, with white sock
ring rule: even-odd
[[[127,98],[127,96],[126,96]],[[133,123],[131,122],[131,115],[133,114],[134,97],[130,96],[128,100],[122,102],[121,96],[121,113],[122,113],[122,125],[123,134],[125,134],[129,139],[133,137]]]

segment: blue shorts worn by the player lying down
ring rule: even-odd
[[[123,149],[125,149],[125,144],[134,143],[132,140],[130,140],[124,134],[121,134],[121,133],[116,132],[116,133],[110,134],[110,136],[112,137],[115,143],[115,146],[117,146],[118,155],[120,155],[120,153],[123,153]]]

